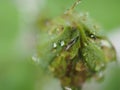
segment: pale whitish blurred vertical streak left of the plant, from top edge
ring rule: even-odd
[[[19,12],[19,32],[15,47],[23,56],[32,54],[35,46],[34,23],[45,0],[13,0]]]

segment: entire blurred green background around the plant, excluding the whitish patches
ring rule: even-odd
[[[27,52],[22,51],[24,47],[18,45],[21,14],[14,1],[0,0],[0,90],[57,90],[53,89],[54,84],[50,83],[51,80],[57,81],[51,79],[52,76],[50,78],[43,75],[39,66],[31,60],[31,54],[24,55]],[[54,18],[63,14],[75,0],[43,1],[45,2],[43,11],[47,10],[49,16]],[[119,9],[120,0],[83,0],[76,7],[78,12],[89,12],[108,33],[120,27]],[[110,66],[108,72],[106,75],[108,78],[102,83],[101,90],[120,90],[120,67]],[[59,87],[59,83],[56,86]]]

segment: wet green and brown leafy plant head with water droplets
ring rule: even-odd
[[[102,79],[107,63],[116,60],[114,47],[88,13],[73,11],[79,2],[55,19],[37,22],[37,61],[63,90],[80,90],[92,77]]]

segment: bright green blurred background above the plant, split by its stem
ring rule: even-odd
[[[51,16],[61,15],[75,0],[47,0],[48,12]],[[120,0],[81,0],[76,7],[77,12],[88,12],[105,30],[120,26]]]

